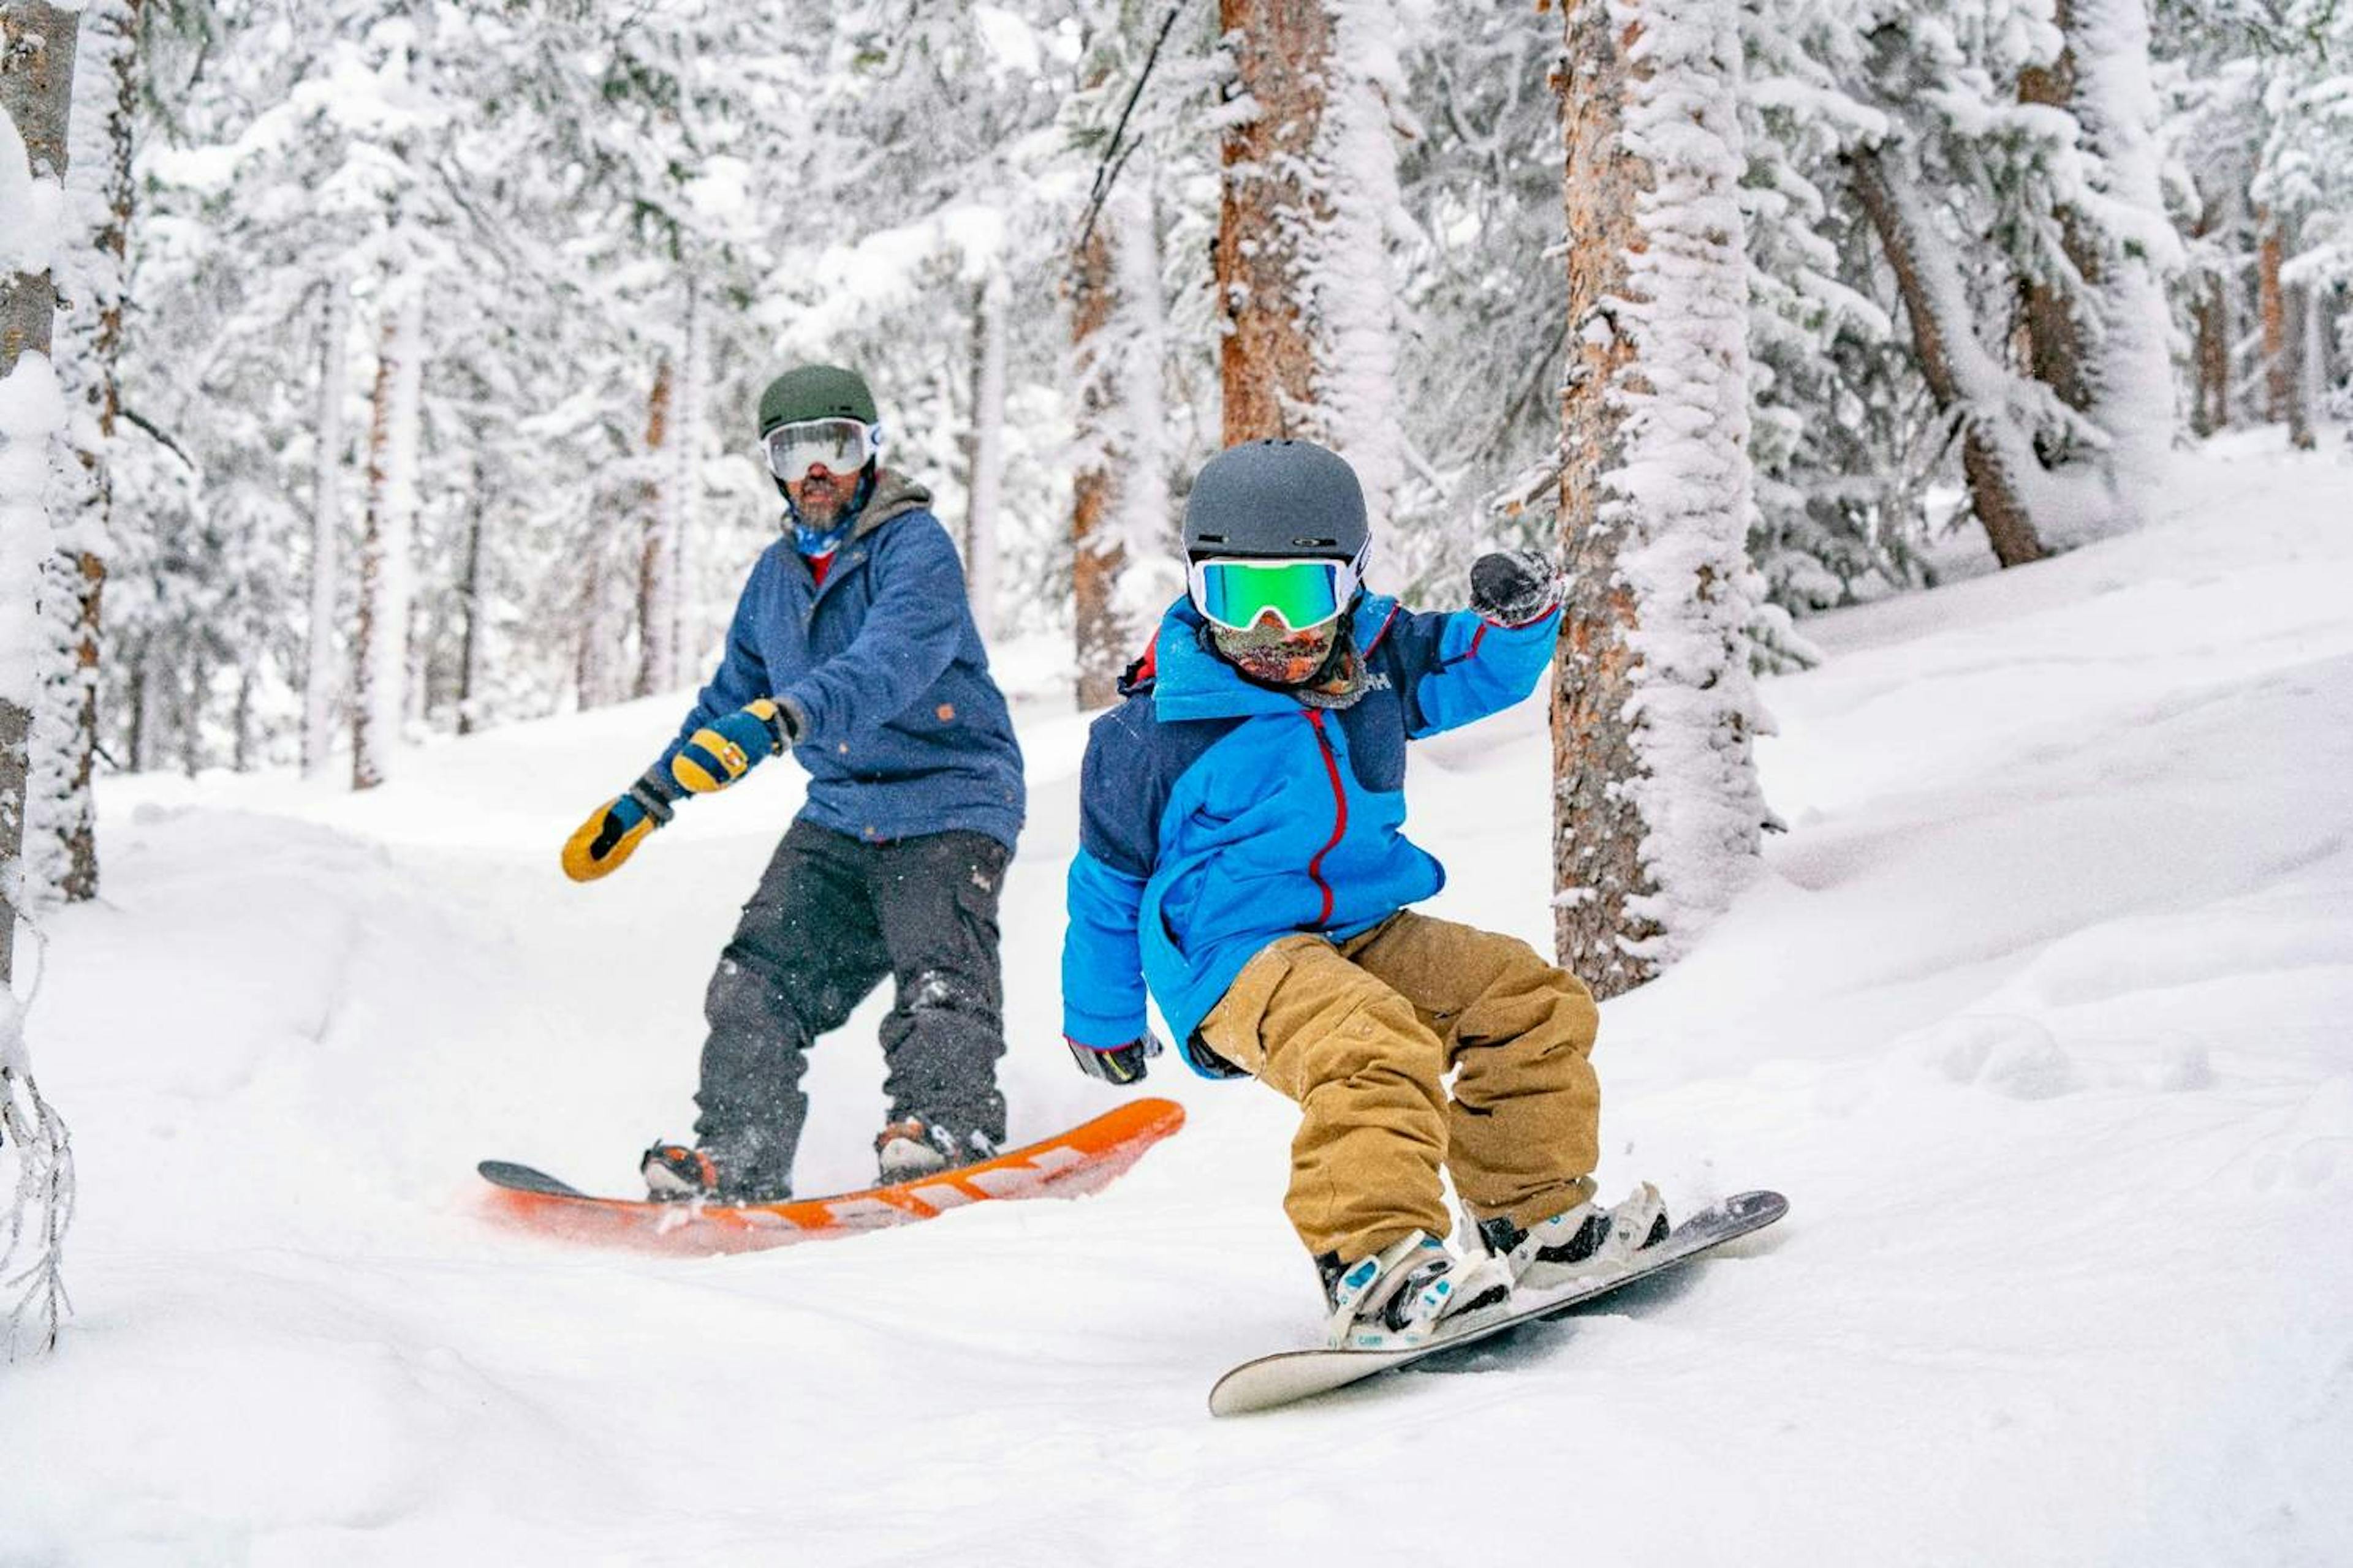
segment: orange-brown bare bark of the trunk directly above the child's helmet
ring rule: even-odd
[[[1313,423],[1315,343],[1301,301],[1315,136],[1332,61],[1325,0],[1219,0],[1235,45],[1235,94],[1257,113],[1228,125],[1219,148],[1217,364],[1226,444],[1322,435]]]

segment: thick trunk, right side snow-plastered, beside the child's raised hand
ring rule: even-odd
[[[1659,973],[1753,872],[1748,289],[1732,0],[1574,0],[1553,686],[1562,966]]]

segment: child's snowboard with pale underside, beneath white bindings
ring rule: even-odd
[[[1273,1356],[1245,1361],[1219,1378],[1217,1387],[1209,1389],[1209,1415],[1273,1410],[1275,1406],[1344,1389],[1351,1382],[1362,1382],[1365,1378],[1386,1373],[1393,1366],[1409,1366],[1424,1356],[1475,1345],[1478,1340],[1494,1338],[1518,1328],[1520,1324],[1560,1316],[1572,1307],[1581,1307],[1584,1302],[1609,1295],[1619,1286],[1671,1269],[1713,1246],[1732,1241],[1734,1237],[1765,1229],[1784,1213],[1788,1213],[1788,1199],[1779,1192],[1744,1192],[1725,1199],[1715,1208],[1692,1215],[1675,1229],[1666,1232],[1664,1241],[1645,1246],[1640,1253],[1628,1258],[1621,1269],[1595,1274],[1591,1279],[1577,1279],[1537,1298],[1515,1298],[1501,1316],[1473,1319],[1468,1326],[1454,1333],[1440,1333],[1426,1345],[1412,1345],[1405,1349],[1285,1349]]]

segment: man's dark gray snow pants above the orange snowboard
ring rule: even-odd
[[[889,976],[889,1119],[920,1117],[960,1145],[972,1133],[1000,1145],[1007,858],[979,832],[866,844],[793,823],[711,976],[696,1138],[734,1145],[781,1185],[809,1112],[800,1091],[809,1044]]]

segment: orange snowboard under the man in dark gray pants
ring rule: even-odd
[[[948,1208],[988,1199],[1082,1197],[1106,1187],[1184,1126],[1174,1100],[1129,1100],[1068,1133],[1007,1150],[976,1166],[960,1166],[913,1182],[842,1192],[784,1204],[656,1204],[600,1199],[553,1175],[504,1159],[475,1166],[492,1185],[494,1218],[562,1237],[626,1246],[642,1253],[751,1253],[824,1237],[849,1237],[885,1225],[929,1220]]]

